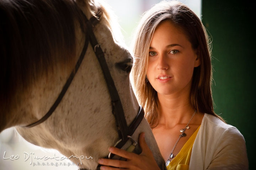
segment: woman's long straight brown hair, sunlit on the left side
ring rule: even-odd
[[[134,40],[134,67],[132,77],[135,93],[139,103],[145,109],[145,117],[151,128],[158,125],[158,95],[151,84],[146,81],[149,45],[156,27],[168,20],[181,28],[187,35],[193,49],[198,49],[201,65],[194,68],[191,86],[191,104],[202,113],[214,113],[212,98],[212,64],[211,46],[206,29],[196,14],[178,1],[162,1],[144,13]],[[223,120],[224,121],[224,120]]]

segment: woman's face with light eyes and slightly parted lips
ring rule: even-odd
[[[190,92],[193,70],[200,65],[200,60],[181,28],[170,21],[160,23],[148,55],[146,75],[158,94]]]

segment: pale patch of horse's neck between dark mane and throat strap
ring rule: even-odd
[[[5,114],[6,125],[1,129],[26,126],[41,119],[58,97],[67,78],[68,72],[60,74],[55,70],[42,75],[26,90],[17,92],[9,113]]]

